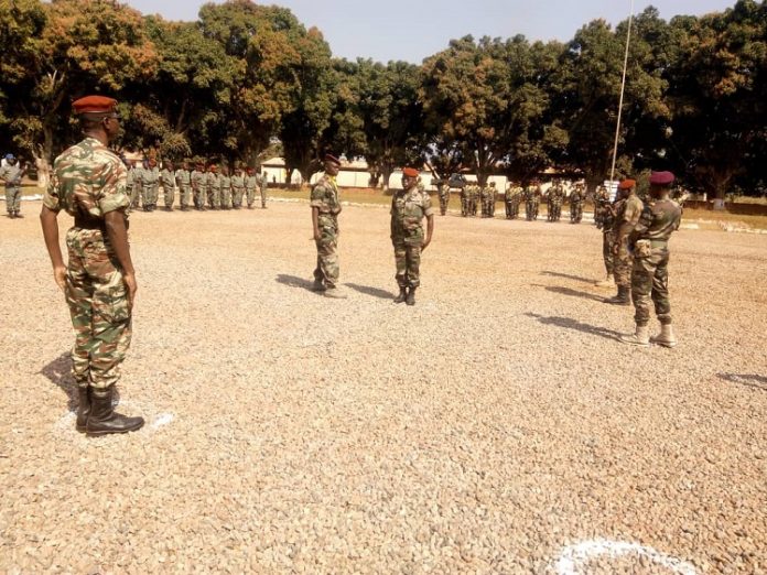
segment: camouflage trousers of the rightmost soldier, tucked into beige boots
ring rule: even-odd
[[[631,300],[634,301],[634,321],[637,325],[650,322],[650,300],[661,324],[671,323],[671,303],[669,302],[669,250],[653,247],[650,254],[635,254],[631,267]]]

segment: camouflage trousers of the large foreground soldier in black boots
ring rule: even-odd
[[[106,389],[120,379],[132,334],[122,272],[100,230],[72,228],[66,246],[66,303],[75,328],[72,372],[79,387]]]

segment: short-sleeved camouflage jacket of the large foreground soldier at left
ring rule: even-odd
[[[95,138],[86,138],[67,149],[53,163],[53,174],[43,205],[71,216],[104,215],[128,210],[127,170],[116,153]]]

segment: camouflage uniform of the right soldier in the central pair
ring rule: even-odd
[[[433,214],[431,198],[413,186],[398,189],[391,198],[391,243],[395,247],[397,284],[418,288],[421,283],[421,247],[424,241],[423,218]]]

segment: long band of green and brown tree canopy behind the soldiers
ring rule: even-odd
[[[609,175],[628,21],[564,43],[452,40],[420,65],[334,58],[279,6],[207,3],[194,22],[112,0],[0,0],[0,143],[48,163],[77,134],[71,102],[120,101],[119,145],[256,164],[279,145],[304,181],[327,151],[526,182],[547,167]],[[764,194],[767,0],[633,21],[618,176],[670,169],[689,188]]]

